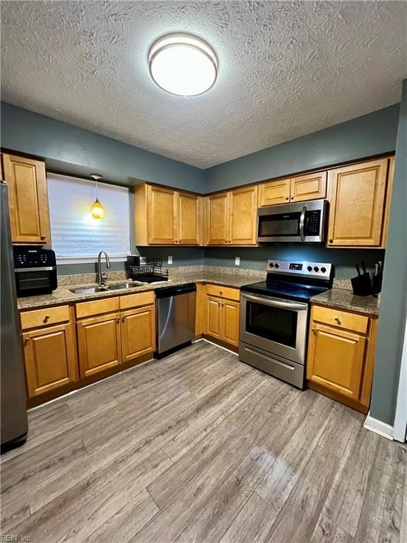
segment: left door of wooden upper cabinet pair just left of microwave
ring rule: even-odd
[[[226,245],[229,241],[230,194],[222,192],[206,197],[206,238],[208,245]]]

